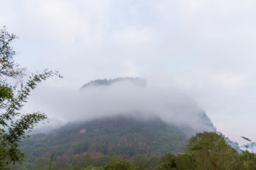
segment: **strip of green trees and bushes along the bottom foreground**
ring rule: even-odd
[[[71,154],[69,151],[55,158],[56,170],[253,170],[256,169],[256,154],[238,152],[226,142],[223,135],[215,132],[200,132],[190,138],[184,153],[166,153],[151,157],[146,154],[104,155],[100,152]],[[14,169],[48,169],[49,158],[40,157]]]

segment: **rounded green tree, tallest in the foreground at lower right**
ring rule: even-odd
[[[238,152],[216,132],[197,133],[188,141],[186,150],[196,161],[196,169],[243,169]]]

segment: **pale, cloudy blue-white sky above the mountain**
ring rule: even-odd
[[[41,98],[61,106],[58,98],[78,94],[90,80],[142,77],[149,86],[191,96],[231,140],[256,141],[255,1],[0,3],[0,26],[19,37],[16,62],[28,72],[52,69],[64,77],[41,83],[25,111],[44,111]]]

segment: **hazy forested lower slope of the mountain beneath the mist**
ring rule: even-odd
[[[182,152],[188,137],[164,123],[160,119],[138,120],[132,117],[117,116],[102,118],[87,123],[73,123],[55,130],[50,135],[33,135],[25,140],[21,149],[26,152],[28,162],[37,157],[50,157],[52,152],[63,155],[84,152],[124,155],[166,154]]]

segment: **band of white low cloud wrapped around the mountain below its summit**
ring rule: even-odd
[[[44,89],[35,94],[43,111],[65,121],[92,120],[112,115],[133,115],[135,118],[160,117],[166,123],[188,125],[198,130],[213,126],[192,98],[159,86],[141,86],[126,79],[112,84],[84,86],[76,91]],[[36,93],[40,91],[36,91]],[[37,107],[37,104],[33,106]]]

